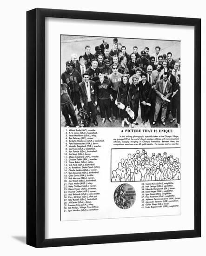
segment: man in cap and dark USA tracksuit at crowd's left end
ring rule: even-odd
[[[79,71],[74,70],[72,61],[66,61],[66,71],[61,74],[62,83],[66,83],[71,91],[71,100],[73,105],[77,105],[78,110],[81,108],[79,83],[82,78]]]

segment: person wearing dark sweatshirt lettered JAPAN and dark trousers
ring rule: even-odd
[[[104,78],[104,73],[100,69],[99,72],[99,78],[95,85],[94,85],[94,92],[95,92],[95,98],[99,100],[100,105],[100,115],[102,118],[102,124],[105,123],[105,117],[107,116],[108,121],[113,122],[111,118],[111,82]],[[95,102],[96,103],[96,102]],[[106,116],[105,116],[106,112]]]

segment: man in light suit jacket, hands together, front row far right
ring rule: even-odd
[[[166,108],[167,108],[166,99],[168,99],[172,94],[172,84],[169,81],[167,81],[167,79],[168,79],[168,73],[163,74],[163,79],[157,81],[154,87],[154,91],[157,94],[157,98],[156,98],[153,125],[155,125],[158,114],[159,114],[159,110],[160,108],[162,108],[161,122],[165,126]]]

